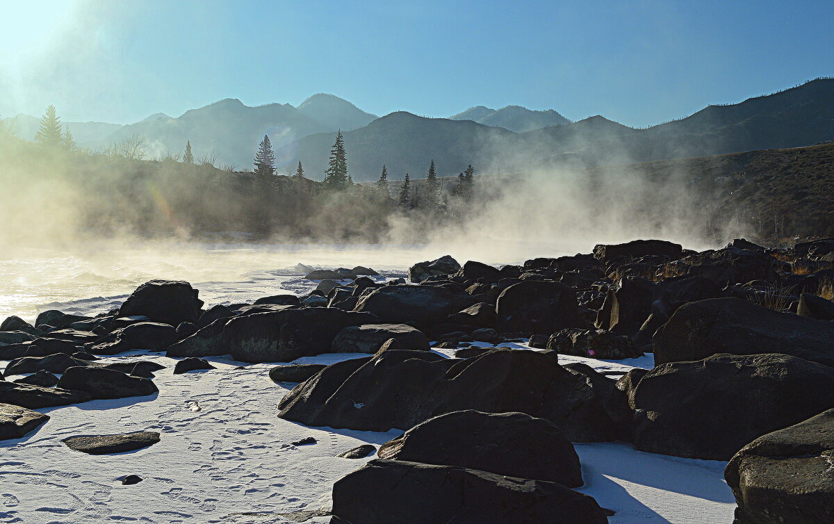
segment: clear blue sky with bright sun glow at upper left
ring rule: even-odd
[[[834,0],[0,0],[0,116],[131,123],[333,93],[384,115],[475,105],[681,118],[834,76]]]

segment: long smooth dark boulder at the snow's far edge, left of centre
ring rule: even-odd
[[[235,360],[290,362],[329,353],[339,331],[349,325],[374,324],[376,316],[334,308],[288,309],[229,320],[223,344]]]

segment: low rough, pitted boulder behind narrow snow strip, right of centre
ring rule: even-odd
[[[569,328],[550,335],[547,349],[560,355],[587,356],[592,359],[621,360],[642,356],[627,336],[606,330]]]

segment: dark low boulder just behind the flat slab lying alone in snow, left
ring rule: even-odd
[[[126,375],[121,371],[93,367],[71,367],[61,375],[58,387],[83,391],[93,399],[120,399],[158,393],[153,380]]]

